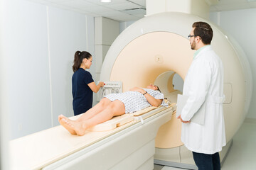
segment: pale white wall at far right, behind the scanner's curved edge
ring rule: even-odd
[[[256,8],[210,13],[210,20],[235,38],[252,70],[252,101],[246,118],[256,119]]]

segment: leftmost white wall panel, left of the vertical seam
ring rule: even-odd
[[[9,1],[6,8],[2,37],[9,86],[6,114],[14,138],[51,125],[47,17],[45,6],[27,1]]]

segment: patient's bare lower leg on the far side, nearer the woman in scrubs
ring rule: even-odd
[[[98,113],[102,112],[107,106],[109,106],[111,103],[110,99],[108,98],[102,98],[99,103],[97,103],[95,106],[90,108],[87,112],[82,114],[80,118],[78,118],[78,121],[85,121],[93,116],[97,115]]]

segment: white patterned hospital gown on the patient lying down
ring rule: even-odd
[[[156,99],[164,99],[164,94],[162,94],[160,91],[154,91],[152,89],[144,90]],[[134,113],[151,106],[146,100],[146,97],[138,91],[126,91],[121,94],[108,94],[105,96],[105,98],[110,99],[110,101],[122,101],[122,103],[124,103],[125,113]],[[168,106],[164,100],[162,101],[161,105]]]

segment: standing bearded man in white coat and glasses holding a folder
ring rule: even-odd
[[[183,96],[188,99],[178,116],[182,122],[181,141],[193,152],[199,170],[220,169],[218,152],[226,144],[223,63],[210,46],[213,30],[208,23],[193,23],[188,38],[196,52],[183,85]],[[193,122],[196,114],[203,123]]]

